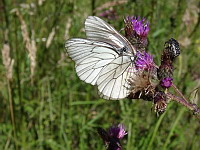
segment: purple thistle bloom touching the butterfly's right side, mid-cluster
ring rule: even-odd
[[[138,70],[150,70],[154,67],[153,57],[146,52],[138,51],[135,66]]]

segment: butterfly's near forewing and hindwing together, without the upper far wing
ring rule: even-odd
[[[115,100],[129,94],[127,79],[135,71],[131,56],[121,56],[110,44],[86,39],[68,40],[65,47],[79,78],[97,85],[101,97]]]

